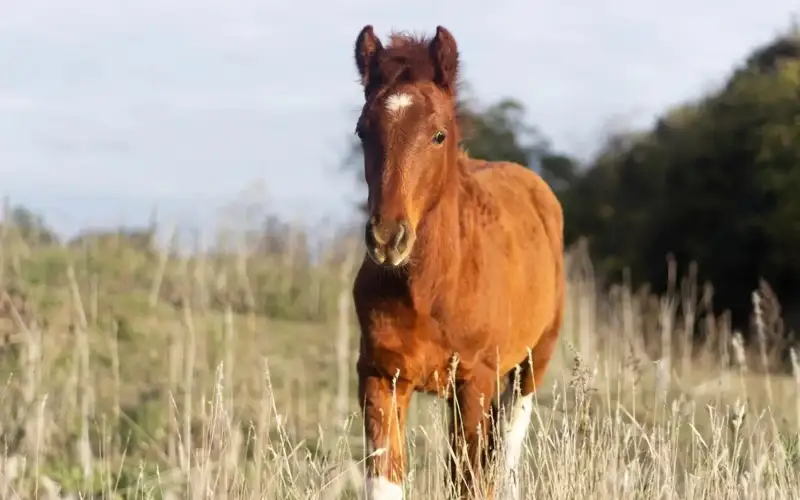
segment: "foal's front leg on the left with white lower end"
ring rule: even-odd
[[[406,474],[405,426],[413,387],[358,366],[358,399],[367,441],[367,500],[401,500]]]

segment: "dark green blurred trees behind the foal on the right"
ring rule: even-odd
[[[800,324],[800,35],[756,47],[720,88],[580,162],[554,150],[515,99],[459,103],[475,157],[537,170],[558,194],[567,244],[585,239],[602,281],[658,293],[668,259],[713,285],[717,311],[751,318],[765,280]],[[345,167],[361,175],[360,146]],[[363,207],[362,207],[363,209]],[[693,271],[694,272],[694,271]]]

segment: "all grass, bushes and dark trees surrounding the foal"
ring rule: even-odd
[[[573,243],[530,496],[800,497],[799,49],[759,48],[587,165],[513,100],[464,102],[467,149],[541,171]],[[358,239],[317,248],[269,218],[187,251],[164,232],[60,241],[5,207],[0,497],[354,498]],[[446,497],[443,405],[414,401],[411,498]]]

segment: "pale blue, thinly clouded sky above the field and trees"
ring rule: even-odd
[[[0,0],[0,195],[66,234],[155,205],[205,225],[240,199],[345,221],[365,24],[384,40],[444,25],[480,101],[520,100],[588,158],[609,126],[721,84],[795,14],[796,0]]]

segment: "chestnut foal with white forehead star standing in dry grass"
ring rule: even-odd
[[[367,25],[355,59],[370,215],[368,258],[353,288],[367,498],[403,498],[414,391],[457,407],[452,451],[463,458],[452,461],[451,473],[463,496],[481,495],[484,483],[485,494],[495,494],[481,479],[497,463],[491,452],[500,417],[502,496],[516,498],[532,393],[562,322],[561,205],[535,172],[459,149],[458,49],[448,30],[437,27],[432,39],[393,35],[384,47]],[[506,418],[497,415],[501,408]]]

